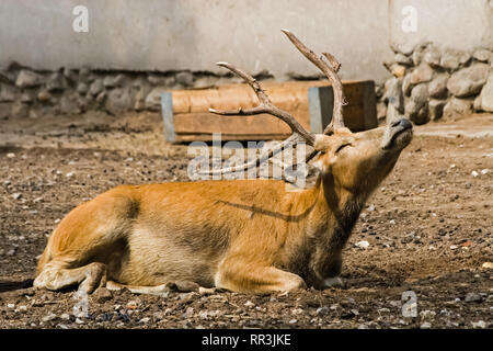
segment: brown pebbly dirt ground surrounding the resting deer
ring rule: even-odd
[[[187,180],[159,115],[0,122],[0,328],[492,328],[493,115],[416,128],[344,250],[341,288],[168,297],[32,287],[36,257],[79,203],[115,185]],[[367,248],[356,244],[368,241]],[[415,294],[417,317],[402,314]]]

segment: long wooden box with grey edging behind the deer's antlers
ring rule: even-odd
[[[375,84],[372,81],[343,81],[348,104],[344,106],[346,126],[365,131],[377,126]],[[329,81],[264,82],[272,102],[288,111],[308,131],[321,133],[332,118],[333,94]],[[290,134],[282,121],[268,115],[219,116],[208,109],[250,109],[257,104],[246,84],[215,89],[175,90],[161,95],[164,135],[168,141],[211,140],[221,133],[222,140],[282,139]]]

